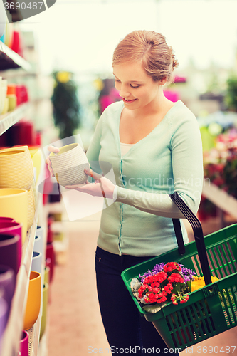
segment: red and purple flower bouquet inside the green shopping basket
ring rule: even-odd
[[[157,313],[164,305],[186,303],[196,273],[177,262],[159,263],[143,276],[132,278],[130,287],[139,304],[148,313]]]

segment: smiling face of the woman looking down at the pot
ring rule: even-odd
[[[155,103],[161,88],[145,72],[140,62],[127,62],[113,67],[115,88],[125,103],[125,108],[137,110]]]

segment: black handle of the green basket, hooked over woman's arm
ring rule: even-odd
[[[194,213],[189,209],[189,206],[187,206],[184,203],[184,200],[179,197],[179,194],[177,193],[172,193],[169,194],[169,197],[171,197],[172,201],[174,204],[177,205],[179,210],[184,214],[186,219],[189,221],[191,224],[192,229],[194,230],[194,239],[196,242],[196,248],[199,254],[199,259],[201,263],[201,269],[202,272],[204,273],[204,281],[207,284],[211,283],[211,271],[209,268],[209,261],[206,256],[206,246],[204,242],[204,233],[202,231],[201,227],[201,222],[199,219],[194,215]],[[185,253],[185,246],[184,246],[184,239],[181,234],[181,226],[180,226],[180,221],[179,219],[172,219],[173,224],[174,224],[174,231],[177,237],[177,243],[179,246],[179,253],[183,255]]]

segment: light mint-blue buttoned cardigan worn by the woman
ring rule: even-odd
[[[178,192],[196,214],[201,199],[201,135],[194,114],[179,100],[162,122],[121,157],[119,125],[124,104],[108,106],[87,157],[112,164],[115,203],[102,211],[98,246],[132,256],[157,256],[177,248],[171,218],[184,217],[168,194]],[[184,242],[188,242],[181,221]]]

